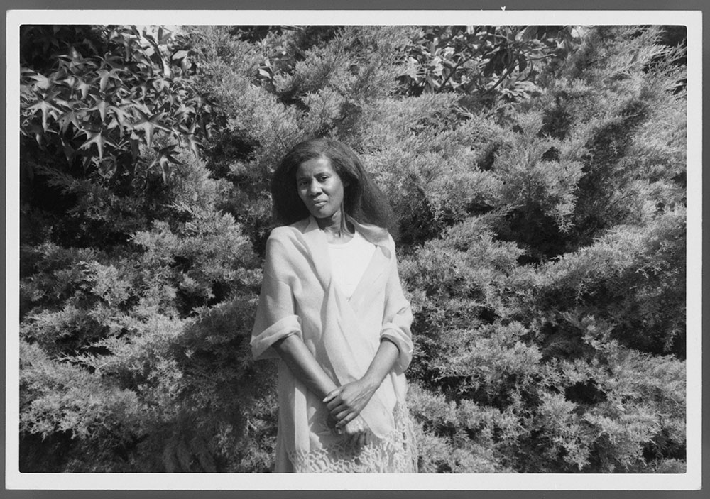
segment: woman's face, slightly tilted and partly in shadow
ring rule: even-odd
[[[296,170],[296,188],[298,197],[315,218],[340,221],[345,185],[328,158],[301,163]]]

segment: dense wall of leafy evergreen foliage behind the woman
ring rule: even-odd
[[[26,30],[22,471],[268,471],[268,178],[323,135],[400,220],[422,471],[684,471],[682,33]]]

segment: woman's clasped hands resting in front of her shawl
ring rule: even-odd
[[[332,390],[323,399],[328,408],[328,426],[338,433],[345,434],[349,444],[369,445],[374,436],[360,412],[365,408],[375,393],[376,387],[364,380],[346,383]]]

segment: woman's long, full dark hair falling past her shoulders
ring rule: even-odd
[[[344,210],[361,223],[398,233],[390,204],[360,163],[355,151],[330,138],[314,138],[296,144],[283,157],[271,178],[271,199],[277,224],[290,225],[305,219],[309,212],[296,189],[296,170],[305,161],[327,158],[343,181]]]

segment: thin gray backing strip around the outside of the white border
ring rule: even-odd
[[[707,2],[704,0],[597,0],[596,2],[591,2],[589,0],[536,0],[536,1],[525,1],[525,0],[507,0],[507,1],[491,1],[491,0],[439,0],[439,1],[425,1],[425,0],[408,0],[408,1],[398,1],[398,0],[359,0],[359,1],[346,1],[346,0],[200,0],[186,1],[186,0],[152,0],[152,1],[138,1],[138,0],[122,0],[122,1],[107,1],[107,0],[94,0],[79,1],[79,0],[0,0],[4,11],[10,9],[151,9],[151,10],[190,10],[190,9],[200,9],[200,10],[234,10],[234,9],[288,9],[288,10],[315,10],[315,9],[349,9],[349,10],[383,10],[383,9],[393,9],[393,10],[484,10],[484,11],[498,11],[505,7],[506,11],[532,11],[532,10],[604,10],[604,11],[626,11],[626,10],[652,10],[652,11],[664,11],[664,10],[681,10],[681,11],[698,11],[699,16],[703,16],[708,10]],[[610,22],[613,21],[613,16],[610,18]],[[703,49],[706,48],[707,40],[707,26],[706,23],[703,26]],[[0,64],[6,68],[6,22],[2,24],[2,37],[0,40]],[[703,50],[703,65],[709,65],[709,57],[707,51]],[[0,92],[4,96],[3,103],[4,107],[6,105],[6,92],[5,92],[5,77],[2,78],[0,82]],[[703,91],[703,102],[709,102],[707,97],[706,89]],[[691,106],[692,107],[692,103]],[[705,106],[703,118],[706,117],[708,113],[708,107]],[[0,113],[2,130],[5,128],[5,114]],[[704,120],[703,120],[704,121]],[[705,144],[706,138],[708,137],[707,131],[703,132],[703,143]],[[0,148],[5,150],[5,133],[0,134]],[[4,155],[2,155],[4,158]],[[4,159],[3,159],[4,160]],[[703,165],[705,160],[703,160]],[[709,175],[706,175],[709,177]],[[703,186],[707,187],[708,178],[704,179]],[[0,231],[5,232],[6,223],[5,219],[6,213],[6,177],[2,175],[2,185],[0,187],[0,197],[2,199],[1,209],[3,211],[3,216],[0,219]],[[710,216],[710,203],[706,203],[703,208],[704,218]],[[706,231],[703,229],[703,247],[705,247],[706,241]],[[5,253],[5,240],[3,238],[3,253]],[[1,275],[3,280],[5,279],[5,261],[4,258],[1,263],[2,271]],[[706,283],[703,283],[702,288],[707,291]],[[3,289],[4,292],[4,289]],[[5,317],[5,305],[3,300],[2,315]],[[706,311],[706,303],[703,303],[703,311]],[[704,314],[705,315],[705,314]],[[4,324],[4,320],[3,320]],[[702,321],[703,330],[706,329],[707,320]],[[5,344],[4,341],[0,341],[0,363],[3,366],[3,371],[5,368]],[[709,385],[708,373],[709,368],[707,365],[707,358],[703,358],[702,361],[703,371],[704,371],[704,388],[702,390],[703,401],[707,400],[707,386]],[[5,378],[1,382],[2,393],[4,393],[5,388]],[[4,421],[5,416],[5,404],[4,402],[0,404],[2,415],[2,420]],[[702,424],[702,449],[703,454],[708,454],[710,452],[710,429],[708,427],[708,418],[703,418]],[[697,436],[700,437],[699,435]],[[5,448],[5,434],[1,432],[0,442],[2,443],[2,448]],[[702,466],[702,476],[705,482],[708,471],[707,465],[708,459],[704,459]],[[158,491],[148,491],[148,490],[6,490],[4,487],[5,478],[5,454],[4,451],[0,454],[0,473],[2,474],[3,488],[0,489],[0,498],[58,498],[58,499],[84,499],[84,498],[160,498],[160,499],[175,499],[175,498],[253,498],[253,499],[265,499],[265,498],[314,498],[314,499],[324,499],[324,498],[337,498],[337,499],[349,499],[349,498],[387,498],[387,499],[418,499],[418,498],[540,498],[540,499],[562,499],[574,497],[575,499],[590,499],[590,498],[633,498],[633,499],[660,499],[660,498],[699,498],[704,497],[701,490],[680,490],[680,491],[606,491],[606,490],[586,490],[586,491],[565,491],[565,490],[523,490],[523,491],[506,491],[506,490],[478,490],[478,491],[438,491],[433,490],[418,490],[418,491],[383,491],[383,490],[363,490],[363,491],[308,491],[308,490],[237,490],[237,491],[222,491],[222,490],[203,490],[203,491],[168,491],[168,490],[158,490]],[[166,477],[167,478],[167,477]],[[475,478],[473,478],[475,480]],[[239,476],[234,476],[235,487],[238,486]],[[553,483],[550,486],[554,487]],[[472,487],[475,484],[472,483]]]

